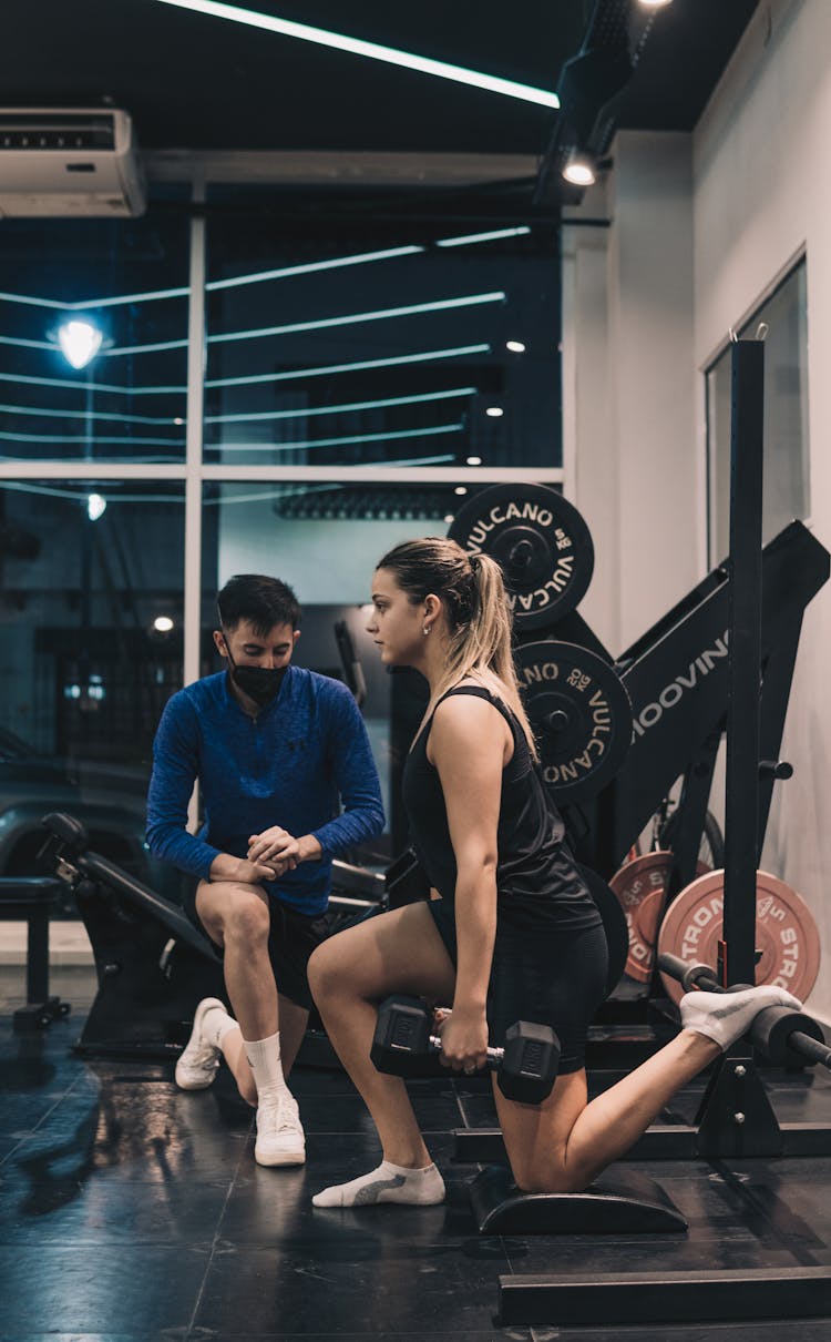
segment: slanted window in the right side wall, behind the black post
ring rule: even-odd
[[[810,514],[808,317],[804,260],[739,331],[751,338],[767,322],[764,388],[763,538]],[[706,373],[709,534],[714,564],[729,550],[730,346]]]

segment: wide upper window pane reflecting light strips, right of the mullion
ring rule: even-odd
[[[205,460],[560,466],[551,229],[370,229],[209,219]]]

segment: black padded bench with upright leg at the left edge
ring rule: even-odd
[[[70,1004],[50,997],[50,915],[59,905],[63,883],[54,876],[0,876],[0,921],[25,922],[25,1007],[15,1012],[15,1029],[43,1029]]]

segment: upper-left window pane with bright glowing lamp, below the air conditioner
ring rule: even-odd
[[[0,460],[182,460],[186,285],[184,213],[0,221]]]

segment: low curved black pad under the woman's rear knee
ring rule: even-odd
[[[489,1165],[470,1182],[480,1235],[684,1233],[686,1219],[647,1174],[610,1169],[583,1193],[523,1193],[505,1165]]]

